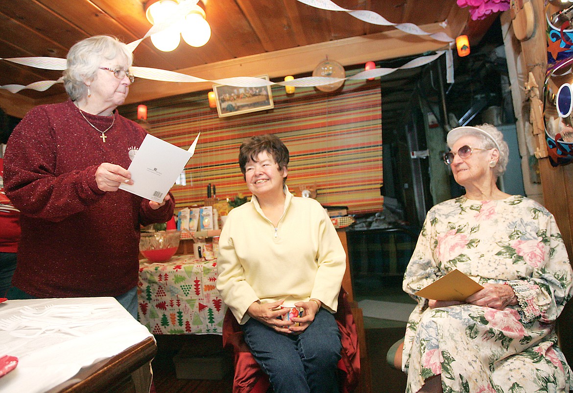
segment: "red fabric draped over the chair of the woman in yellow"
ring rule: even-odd
[[[350,303],[344,290],[338,295],[338,310],[334,314],[340,330],[342,351],[337,367],[342,371],[340,391],[350,393],[358,386],[360,378],[360,348],[358,330],[352,317]],[[233,393],[264,393],[269,388],[269,378],[260,369],[257,361],[243,340],[243,332],[231,310],[227,309],[223,320],[223,347],[234,354],[235,376]]]

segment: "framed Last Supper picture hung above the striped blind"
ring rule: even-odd
[[[257,77],[269,80],[268,75]],[[220,118],[274,108],[270,86],[236,87],[214,84],[213,92],[215,93],[217,113]]]

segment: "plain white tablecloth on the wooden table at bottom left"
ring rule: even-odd
[[[82,367],[115,356],[151,336],[112,297],[9,300],[0,303],[0,321],[14,316],[25,318],[22,309],[26,306],[62,306],[78,314],[77,318],[66,317],[66,323],[85,324],[70,328],[78,336],[52,332],[22,338],[14,334],[33,330],[0,329],[0,356],[18,357],[18,366],[0,378],[2,393],[44,392],[72,378]]]

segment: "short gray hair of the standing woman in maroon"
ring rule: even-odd
[[[67,68],[64,71],[64,88],[75,101],[87,94],[84,80],[93,80],[102,60],[112,60],[124,55],[128,67],[134,61],[134,55],[123,42],[111,36],[93,36],[76,42],[70,48]]]

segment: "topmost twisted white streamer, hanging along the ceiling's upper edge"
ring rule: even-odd
[[[394,28],[401,30],[402,32],[408,34],[414,34],[416,36],[429,36],[434,38],[436,41],[442,42],[452,42],[454,41],[452,37],[448,36],[448,34],[440,32],[440,33],[433,33],[430,34],[425,32],[417,25],[413,23],[400,23],[395,24],[388,21],[386,18],[382,17],[380,14],[375,13],[374,11],[369,10],[347,10],[346,8],[340,7],[333,3],[330,0],[297,0],[303,4],[306,4],[311,7],[319,8],[322,10],[327,11],[343,11],[346,12],[358,20],[363,22],[367,22],[372,25],[379,25],[379,26],[394,26]]]

